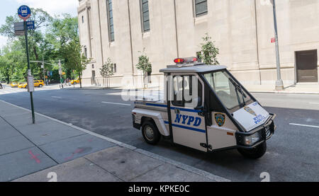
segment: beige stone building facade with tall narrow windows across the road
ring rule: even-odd
[[[318,83],[319,1],[276,1],[285,86]],[[274,18],[269,0],[79,0],[80,41],[92,58],[84,84],[103,86],[100,68],[115,63],[111,86],[123,78],[138,83],[135,68],[143,50],[152,62],[152,85],[159,69],[177,57],[194,57],[208,33],[220,50],[218,61],[244,84],[276,81]]]

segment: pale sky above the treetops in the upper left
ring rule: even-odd
[[[27,5],[30,8],[42,8],[50,15],[69,13],[77,16],[78,0],[0,0],[0,25],[6,23],[6,16],[18,14],[18,7]],[[0,48],[6,44],[6,38],[0,35]]]

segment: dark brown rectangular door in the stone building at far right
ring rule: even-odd
[[[297,82],[318,82],[317,50],[296,52]]]

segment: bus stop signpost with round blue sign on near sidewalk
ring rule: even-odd
[[[23,19],[23,25],[21,23],[14,24],[14,30],[16,35],[22,35],[26,38],[26,54],[28,59],[28,92],[30,92],[30,100],[31,100],[31,109],[32,109],[32,122],[35,124],[35,115],[34,115],[34,105],[33,105],[33,76],[31,75],[30,69],[30,58],[29,58],[29,50],[28,50],[28,29],[34,29],[34,21],[26,21],[31,16],[31,10],[28,6],[20,6],[18,8],[18,16]]]

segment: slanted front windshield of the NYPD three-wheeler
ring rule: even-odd
[[[228,110],[244,107],[251,100],[250,96],[242,90],[226,71],[203,74],[213,91]]]

